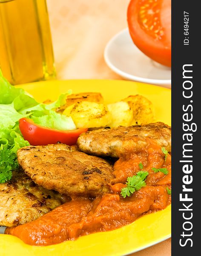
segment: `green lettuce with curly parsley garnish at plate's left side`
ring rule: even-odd
[[[76,129],[71,117],[54,111],[65,104],[70,93],[69,90],[60,95],[49,105],[39,103],[25,90],[11,85],[0,70],[0,183],[10,180],[11,171],[17,168],[17,150],[30,145],[20,132],[20,118],[28,117],[34,123],[52,129]]]

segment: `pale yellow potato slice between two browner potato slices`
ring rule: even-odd
[[[112,104],[107,105],[109,112],[111,114],[111,123],[110,127],[118,127],[122,126],[129,126],[133,119],[133,111],[130,108],[128,102],[115,102]]]

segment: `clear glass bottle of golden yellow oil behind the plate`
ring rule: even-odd
[[[46,0],[0,0],[0,68],[11,84],[55,78]]]

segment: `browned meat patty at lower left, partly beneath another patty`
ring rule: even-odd
[[[23,171],[0,184],[0,226],[14,227],[33,221],[70,198],[37,186]]]

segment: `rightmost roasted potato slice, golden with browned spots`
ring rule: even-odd
[[[129,96],[123,99],[127,102],[133,111],[133,120],[131,125],[140,125],[141,123],[151,123],[154,121],[154,111],[152,102],[141,95]]]

